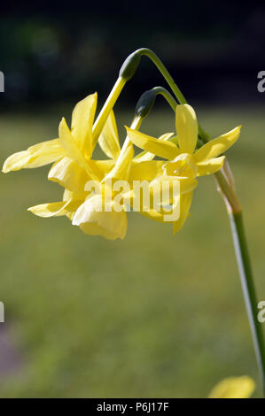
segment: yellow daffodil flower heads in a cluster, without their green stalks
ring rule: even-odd
[[[58,127],[58,138],[35,144],[27,150],[13,154],[4,162],[3,172],[17,171],[53,164],[48,179],[58,182],[64,189],[63,200],[39,204],[28,208],[40,217],[66,215],[73,225],[79,226],[85,234],[102,235],[107,239],[124,238],[127,231],[127,213],[115,207],[111,198],[111,210],[100,210],[106,192],[106,179],[128,181],[130,191],[124,199],[132,204],[134,181],[148,181],[152,193],[154,184],[168,181],[180,183],[179,196],[171,199],[171,209],[177,204],[179,216],[173,223],[174,233],[183,227],[189,215],[193,190],[198,176],[215,173],[222,168],[222,153],[236,142],[240,127],[204,144],[198,150],[198,122],[189,104],[175,108],[176,136],[173,133],[153,138],[137,131],[140,125],[136,118],[127,128],[127,138],[121,148],[113,110],[108,114],[99,138],[93,134],[93,123],[97,107],[97,93],[87,96],[74,107],[72,124],[66,119]],[[106,158],[93,159],[95,147],[99,144]],[[134,146],[144,150],[134,156]],[[154,157],[157,157],[154,159]],[[97,190],[88,189],[88,181],[96,181]],[[116,208],[116,209],[115,209]],[[139,210],[144,216],[163,221],[164,212],[155,207]]]

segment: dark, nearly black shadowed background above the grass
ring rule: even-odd
[[[69,10],[66,4],[48,7],[46,2],[1,5],[3,107],[51,104],[94,89],[104,99],[121,62],[143,46],[163,58],[192,102],[263,100],[256,91],[257,73],[265,67],[261,2],[100,4],[72,4]],[[124,104],[163,82],[147,58],[141,67]]]

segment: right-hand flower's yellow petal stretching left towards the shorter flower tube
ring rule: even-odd
[[[150,135],[144,135],[144,133],[132,130],[129,127],[126,127],[126,130],[132,143],[156,156],[160,156],[160,158],[171,160],[181,153],[181,150],[174,143],[155,139]]]

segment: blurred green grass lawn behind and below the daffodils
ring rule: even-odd
[[[0,116],[1,164],[56,137],[61,115]],[[258,298],[265,300],[264,108],[198,115],[211,136],[243,125],[229,158]],[[118,119],[130,121],[124,112]],[[173,114],[161,111],[142,129],[159,135],[172,128]],[[199,179],[191,218],[178,235],[129,213],[125,240],[109,242],[83,235],[66,218],[27,212],[61,199],[62,189],[45,179],[48,170],[1,175],[0,339],[8,331],[19,360],[2,374],[0,366],[0,397],[207,397],[224,377],[257,380],[229,222],[213,177]]]

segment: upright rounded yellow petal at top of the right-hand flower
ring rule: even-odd
[[[175,129],[179,148],[183,153],[192,154],[198,140],[198,122],[191,105],[180,104],[176,106]]]

